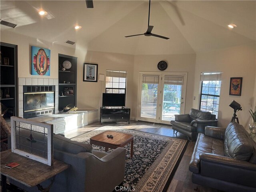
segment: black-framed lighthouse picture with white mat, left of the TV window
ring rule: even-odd
[[[84,79],[83,81],[97,82],[98,64],[84,63]]]

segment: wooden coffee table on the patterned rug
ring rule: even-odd
[[[112,135],[114,138],[107,138],[107,135]],[[131,143],[131,158],[133,154],[133,135],[114,132],[114,131],[104,131],[96,136],[90,138],[90,144],[95,144],[98,146],[105,147],[105,151],[108,148],[116,149],[118,147],[124,147],[128,143]]]

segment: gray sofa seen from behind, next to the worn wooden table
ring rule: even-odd
[[[57,174],[51,192],[112,192],[124,180],[126,150],[117,148],[110,153],[92,150],[90,144],[72,141],[62,134],[54,135],[54,159],[70,167]],[[46,188],[51,180],[42,182]],[[14,180],[10,183],[28,191],[38,192]]]

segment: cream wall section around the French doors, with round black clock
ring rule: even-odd
[[[188,113],[192,108],[196,54],[136,55],[134,56],[134,78],[132,85],[134,101],[133,111],[131,111],[132,117],[137,116],[138,110],[139,72],[160,72],[157,64],[161,60],[165,60],[168,63],[168,68],[164,72],[188,72],[185,112]]]

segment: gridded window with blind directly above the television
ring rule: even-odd
[[[106,70],[106,93],[126,94],[126,71]]]

